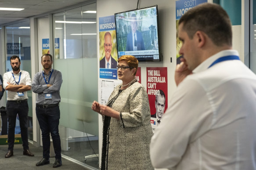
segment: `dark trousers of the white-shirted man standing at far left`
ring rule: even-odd
[[[28,101],[22,101],[17,103],[17,101],[7,101],[7,118],[8,118],[8,150],[13,150],[14,147],[14,135],[15,135],[15,126],[17,114],[20,121],[21,136],[22,136],[22,146],[23,149],[29,149],[28,142],[28,114],[29,114],[29,105]]]

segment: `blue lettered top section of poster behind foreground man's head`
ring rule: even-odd
[[[200,3],[205,3],[207,0],[177,0],[176,1],[176,20],[190,10],[191,8],[199,5]]]

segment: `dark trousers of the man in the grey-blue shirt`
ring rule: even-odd
[[[60,108],[36,107],[36,117],[42,131],[43,158],[50,158],[50,135],[53,141],[55,158],[61,160],[61,139],[59,135]]]

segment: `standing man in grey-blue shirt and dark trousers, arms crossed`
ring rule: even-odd
[[[36,117],[38,119],[43,142],[43,159],[36,166],[49,164],[50,158],[50,134],[53,140],[55,163],[53,167],[60,167],[61,162],[61,139],[59,135],[59,119],[61,102],[60,89],[62,83],[61,72],[52,69],[53,63],[50,54],[41,57],[43,71],[36,73],[32,82],[32,91],[37,93]]]

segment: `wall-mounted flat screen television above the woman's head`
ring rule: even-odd
[[[118,58],[160,61],[157,5],[115,14]]]

